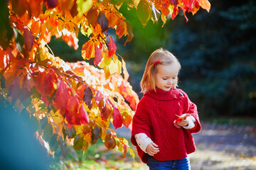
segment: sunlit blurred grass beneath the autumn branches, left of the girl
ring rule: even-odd
[[[136,152],[136,151],[135,151]],[[127,151],[126,157],[117,149],[107,150],[104,143],[99,140],[95,145],[90,145],[86,152],[75,151],[73,147],[68,147],[68,154],[65,159],[61,156],[60,150],[55,152],[54,163],[50,170],[64,169],[147,169],[136,155],[135,159]]]

